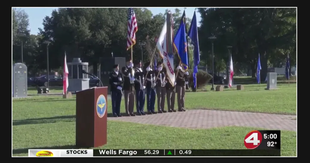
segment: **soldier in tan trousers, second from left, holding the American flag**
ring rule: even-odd
[[[124,76],[124,98],[125,98],[125,111],[127,116],[135,116],[135,72],[131,59],[126,58],[126,66],[122,67]]]

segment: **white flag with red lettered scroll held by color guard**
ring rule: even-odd
[[[171,30],[173,31],[173,27],[171,27]],[[171,34],[171,39],[172,38],[173,38],[173,35]],[[157,39],[156,48],[158,50],[159,56],[163,59],[163,64],[167,70],[167,79],[169,80],[170,84],[174,86],[174,82],[175,82],[175,73],[174,73],[174,64],[173,64],[174,56],[173,54],[168,54],[167,21],[165,21],[165,24],[162,27],[160,36]]]

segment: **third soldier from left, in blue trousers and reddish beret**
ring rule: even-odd
[[[137,115],[145,115],[144,103],[145,103],[145,86],[144,86],[145,72],[141,69],[141,61],[135,63],[135,98]]]

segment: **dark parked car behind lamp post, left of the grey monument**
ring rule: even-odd
[[[34,79],[34,83],[37,86],[47,86],[47,75],[42,75]],[[49,85],[50,86],[62,86],[63,79],[57,75],[49,75]]]

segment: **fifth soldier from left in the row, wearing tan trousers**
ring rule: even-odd
[[[159,73],[159,75],[158,75]],[[157,110],[158,113],[166,113],[165,111],[165,98],[166,98],[166,70],[162,68],[162,62],[157,63],[155,75],[156,80],[156,94],[157,94]]]

